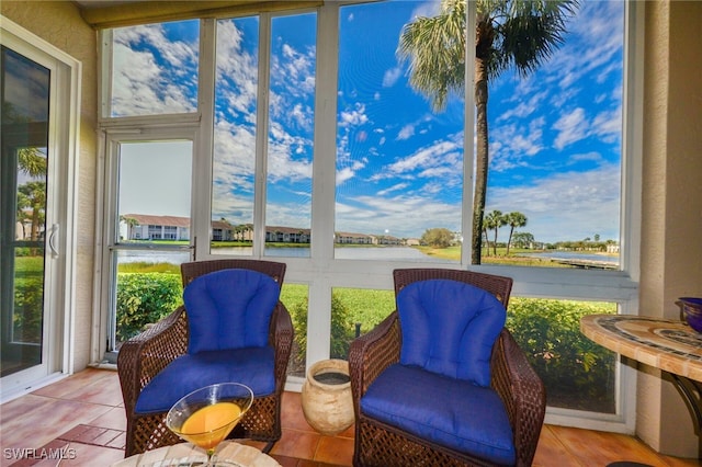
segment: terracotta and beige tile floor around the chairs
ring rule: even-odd
[[[351,465],[352,429],[337,436],[316,433],[296,392],[285,392],[282,417],[283,437],[271,455],[283,467]],[[41,459],[42,454],[64,448],[61,466],[109,466],[124,457],[125,425],[116,372],[86,369],[0,406],[0,465],[56,466],[57,460]],[[545,425],[534,466],[607,466],[622,459],[656,467],[702,465],[658,455],[632,436]]]

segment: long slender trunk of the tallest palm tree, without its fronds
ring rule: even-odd
[[[488,139],[487,139],[487,64],[475,59],[476,152],[475,187],[473,193],[473,249],[471,262],[480,264],[483,217],[487,192]]]

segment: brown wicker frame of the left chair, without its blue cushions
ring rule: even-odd
[[[267,274],[279,287],[282,286],[285,276],[284,263],[257,260],[197,261],[181,265],[183,286],[188,286],[199,276],[233,269]],[[282,434],[281,397],[293,343],[291,317],[280,300],[270,319],[268,342],[274,351],[275,389],[269,396],[254,399],[251,409],[230,435],[265,442],[268,444],[263,451],[267,453]],[[117,371],[127,414],[125,457],[182,442],[166,426],[167,411],[137,413],[135,408],[143,389],[171,362],[184,355],[188,345],[188,314],[184,306],[181,306],[150,329],[125,342],[120,349]]]

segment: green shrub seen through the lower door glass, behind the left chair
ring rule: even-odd
[[[181,277],[163,273],[120,273],[116,334],[125,342],[182,304]]]

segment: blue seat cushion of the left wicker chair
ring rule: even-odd
[[[182,355],[144,387],[135,412],[167,412],[181,397],[216,383],[241,383],[254,397],[270,396],[275,391],[274,363],[272,346]]]

